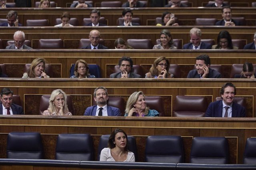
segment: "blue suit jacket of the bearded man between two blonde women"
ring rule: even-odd
[[[97,105],[87,107],[84,116],[95,116]],[[118,108],[107,105],[108,116],[121,116],[121,112]]]

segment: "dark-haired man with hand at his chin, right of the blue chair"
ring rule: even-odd
[[[141,78],[141,75],[131,72],[133,61],[130,57],[122,57],[118,65],[120,72],[111,74],[110,78]]]

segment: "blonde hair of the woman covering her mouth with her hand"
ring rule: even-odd
[[[56,90],[52,91],[52,94],[51,94],[51,97],[49,100],[48,110],[50,111],[51,114],[56,113],[56,107],[54,106],[53,101],[54,101],[55,97],[57,97],[59,94],[62,94],[64,96],[63,113],[68,113],[67,95],[64,91],[62,91],[62,89],[56,89]],[[62,115],[63,115],[63,113],[62,113]]]

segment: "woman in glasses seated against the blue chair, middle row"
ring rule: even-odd
[[[86,61],[78,59],[74,67],[74,75],[70,78],[95,78],[94,75],[90,75],[89,67]]]

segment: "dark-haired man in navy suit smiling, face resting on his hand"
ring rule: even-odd
[[[187,78],[221,78],[221,74],[210,68],[210,57],[206,54],[196,57],[196,69],[190,70]]]

